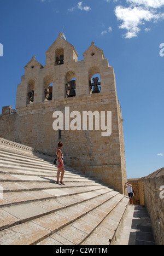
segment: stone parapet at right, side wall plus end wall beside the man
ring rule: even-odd
[[[164,168],[140,179],[128,179],[133,186],[134,204],[147,207],[156,245],[164,245]]]

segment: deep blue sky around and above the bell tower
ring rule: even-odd
[[[114,67],[127,177],[164,166],[164,0],[1,0],[0,24],[1,110],[15,108],[25,65],[35,55],[44,66],[64,27],[78,60],[93,41]]]

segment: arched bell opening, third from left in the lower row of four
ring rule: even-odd
[[[76,78],[75,72],[69,71],[66,74],[66,97],[71,98],[76,96]]]

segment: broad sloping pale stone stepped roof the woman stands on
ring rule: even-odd
[[[0,138],[0,245],[109,245],[129,199],[54,157]]]

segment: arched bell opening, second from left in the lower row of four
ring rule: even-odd
[[[52,91],[53,91],[53,83],[52,83],[52,76],[46,75],[44,78],[44,101],[51,101],[52,100]]]

